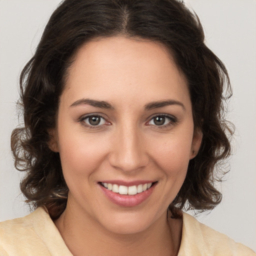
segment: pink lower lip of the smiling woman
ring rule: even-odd
[[[117,205],[125,206],[125,207],[132,207],[142,203],[151,195],[155,187],[155,185],[152,185],[149,189],[141,193],[137,193],[134,195],[127,195],[127,194],[115,193],[111,190],[108,190],[102,185],[99,185],[99,186],[110,201],[112,201]]]

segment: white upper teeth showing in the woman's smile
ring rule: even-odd
[[[117,185],[117,184],[111,184],[111,183],[101,183],[105,188],[108,190],[112,190],[115,193],[119,194],[129,194],[134,195],[136,193],[141,193],[148,188],[151,187],[152,183],[145,183],[145,184],[139,184],[137,186],[124,186],[124,185]]]

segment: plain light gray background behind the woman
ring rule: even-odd
[[[10,133],[17,125],[18,76],[34,52],[59,0],[0,0],[0,221],[28,209],[13,167]],[[231,171],[223,200],[198,219],[256,250],[256,1],[187,0],[198,14],[208,46],[226,64],[233,86],[229,119],[236,125]]]

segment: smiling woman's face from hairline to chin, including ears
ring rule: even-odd
[[[60,96],[56,143],[67,209],[117,233],[165,218],[193,150],[187,82],[159,43],[91,40],[77,52]]]

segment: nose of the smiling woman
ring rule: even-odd
[[[149,161],[142,132],[134,126],[123,125],[117,129],[111,142],[109,163],[125,172],[137,171]]]

